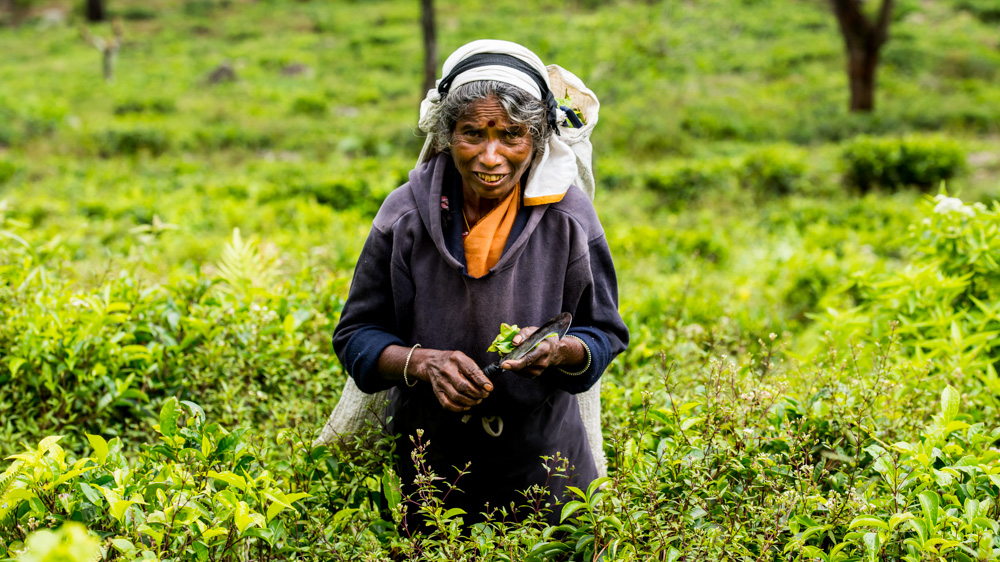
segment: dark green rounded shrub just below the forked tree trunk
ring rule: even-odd
[[[965,152],[953,140],[940,138],[859,137],[841,154],[848,184],[867,192],[878,185],[896,190],[928,189],[965,167]]]

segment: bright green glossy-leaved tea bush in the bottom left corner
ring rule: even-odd
[[[297,534],[297,517],[277,516],[309,494],[275,479],[246,429],[206,423],[200,406],[176,399],[159,422],[160,442],[144,445],[136,461],[120,439],[100,435],[87,436],[93,454],[78,460],[60,437],[13,455],[0,477],[0,547],[17,551],[26,529],[69,521],[103,537],[107,558],[128,560],[264,554]]]

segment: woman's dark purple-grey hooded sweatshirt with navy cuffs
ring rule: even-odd
[[[558,203],[522,208],[500,261],[476,279],[462,255],[461,179],[450,156],[438,155],[409,180],[389,194],[372,224],[334,332],[337,357],[362,391],[390,389],[386,414],[400,434],[404,492],[412,492],[415,476],[410,435],[423,429],[423,442],[430,442],[425,460],[438,476],[452,481],[452,467],[471,463],[461,492],[447,499],[469,514],[467,523],[487,504],[508,511],[512,501],[523,504],[519,491],[533,484],[547,486],[553,504],[565,501],[567,485],[586,488],[596,477],[572,394],[589,389],[628,345],[594,207],[571,187]],[[378,372],[379,356],[393,344],[460,350],[485,366],[498,359],[487,348],[502,322],[540,326],[560,312],[573,315],[569,333],[590,348],[590,367],[576,376],[550,368],[535,379],[504,372],[466,421],[441,407],[431,385],[407,387]],[[557,455],[568,461],[568,479],[551,478],[543,466],[541,457]]]

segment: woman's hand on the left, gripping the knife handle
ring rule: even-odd
[[[416,363],[411,365],[414,376],[431,384],[446,410],[464,412],[493,391],[493,383],[479,365],[461,351],[418,348],[410,361]]]

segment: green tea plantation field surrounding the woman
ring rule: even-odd
[[[600,98],[632,334],[609,478],[471,529],[379,428],[312,446],[423,143],[419,2],[8,4],[0,561],[1000,558],[992,0],[898,0],[872,114],[826,1],[436,2],[441,61],[517,41]]]

